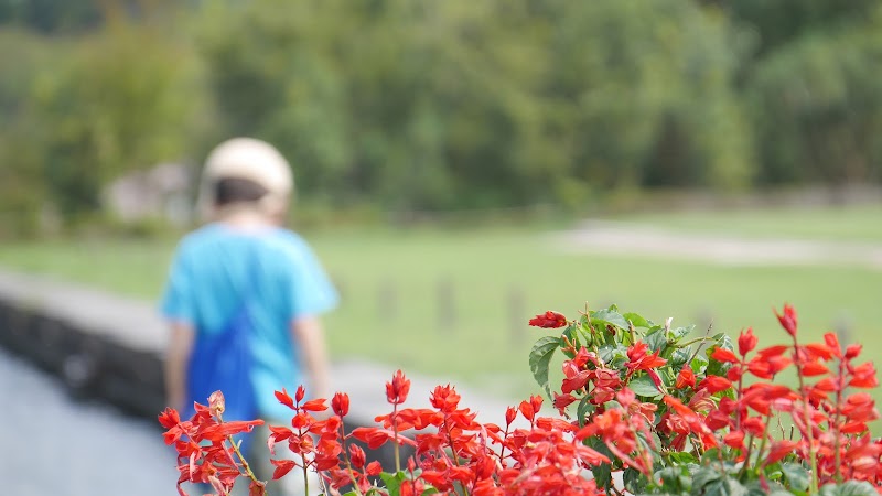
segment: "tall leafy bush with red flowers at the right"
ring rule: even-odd
[[[853,391],[878,386],[873,364],[856,364],[860,345],[843,349],[833,333],[800,343],[792,306],[776,315],[790,342],[756,349],[752,328],[736,345],[723,334],[681,343],[690,330],[614,308],[587,312],[557,325],[559,338],[540,339],[531,365],[548,388],[549,357],[564,354],[555,407],[567,416],[579,402],[580,434],[613,455],[594,468],[603,489],[615,489],[610,472],[619,471],[635,494],[709,490],[687,479],[762,492],[882,488],[882,441],[868,427],[879,411]],[[774,382],[785,370],[796,387]]]

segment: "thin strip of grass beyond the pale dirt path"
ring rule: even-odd
[[[645,213],[620,220],[704,235],[882,242],[882,204]]]

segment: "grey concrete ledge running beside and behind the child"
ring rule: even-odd
[[[165,408],[162,378],[168,330],[144,301],[80,288],[45,277],[0,270],[0,346],[57,375],[76,397],[98,397],[139,417]],[[395,369],[364,360],[332,364],[334,390],[351,398],[347,427],[374,425],[388,413],[385,384]],[[430,408],[429,397],[449,379],[413,374],[406,407]],[[506,403],[456,387],[462,406],[482,422],[504,424]],[[391,466],[390,446],[372,454]]]

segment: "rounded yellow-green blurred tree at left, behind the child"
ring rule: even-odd
[[[78,41],[35,86],[46,186],[72,220],[100,208],[126,171],[185,157],[202,110],[186,45],[158,29],[110,24]]]

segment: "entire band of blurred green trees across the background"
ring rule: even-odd
[[[236,134],[330,206],[879,182],[876,3],[0,0],[0,171],[72,215]]]

